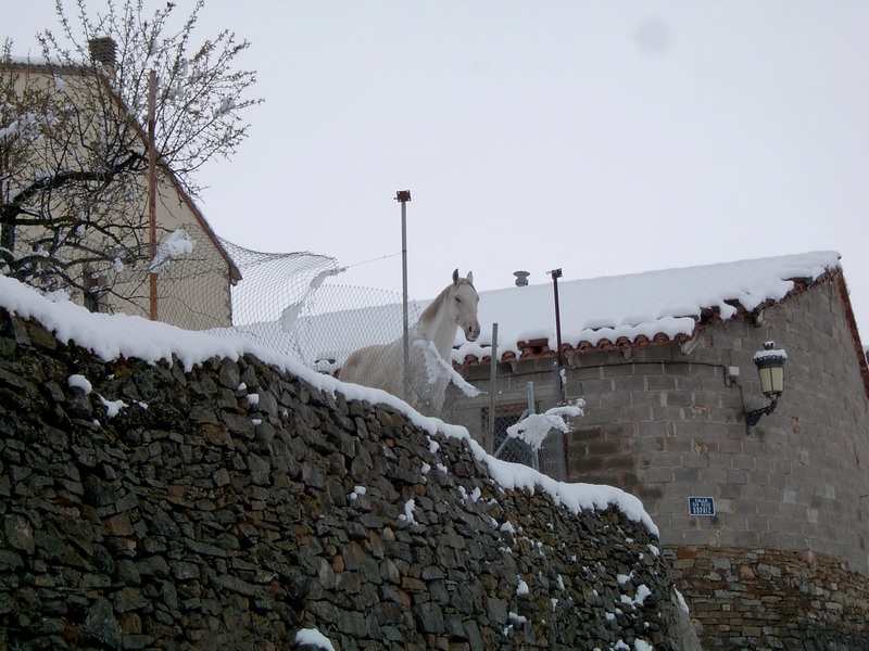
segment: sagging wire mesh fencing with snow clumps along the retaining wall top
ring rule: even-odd
[[[383,388],[405,399],[417,410],[450,420],[449,407],[441,409],[445,385],[461,387],[463,380],[448,360],[441,360],[433,347],[413,328],[426,303],[408,303],[408,369],[404,383],[404,346],[402,296],[386,290],[335,284],[342,269],[335,258],[301,253],[261,253],[221,240],[241,275],[231,288],[231,326],[211,328],[218,335],[240,335],[267,348],[288,355],[318,372],[339,374],[367,386]],[[214,301],[201,288],[180,282],[185,276],[214,275],[219,260],[204,252],[179,256],[166,267],[161,305],[169,317],[169,308],[187,309],[187,317],[177,314],[174,320],[190,322],[203,311],[198,301]],[[173,282],[169,282],[173,280]],[[228,286],[228,283],[225,283]],[[187,294],[185,290],[187,288]],[[196,290],[196,291],[191,291]],[[173,294],[174,292],[174,294]],[[213,310],[212,310],[213,311]],[[352,378],[340,375],[348,358],[361,349],[376,348],[365,372]],[[438,368],[438,365],[441,365]],[[383,381],[387,378],[387,381]],[[500,459],[534,468],[554,478],[567,475],[565,436],[553,429],[538,441],[511,434],[508,430],[522,419],[537,413],[540,404],[528,388],[528,404],[501,405],[495,408],[493,449]],[[468,394],[469,395],[469,394]],[[461,398],[459,398],[461,399]],[[471,435],[483,439],[490,426],[488,408],[481,408],[481,426]]]

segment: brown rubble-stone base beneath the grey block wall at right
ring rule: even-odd
[[[783,549],[668,550],[704,649],[869,649],[869,585],[841,559]]]

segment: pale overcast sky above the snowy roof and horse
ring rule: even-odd
[[[36,54],[53,4],[0,36]],[[411,190],[412,297],[829,248],[869,329],[865,0],[206,0],[224,28],[265,99],[200,177],[237,244],[401,292]]]

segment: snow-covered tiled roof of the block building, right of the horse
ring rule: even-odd
[[[730,319],[784,298],[797,285],[840,268],[840,255],[819,251],[627,276],[558,280],[562,343],[595,347],[605,342],[679,341],[694,334],[701,316],[715,310]],[[545,340],[556,348],[553,283],[480,292],[482,334],[458,334],[453,359],[490,355],[498,323],[501,356],[521,355],[525,342]]]

